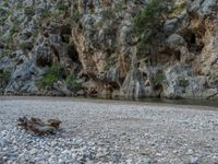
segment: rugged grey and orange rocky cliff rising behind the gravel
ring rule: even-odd
[[[0,92],[207,98],[217,0],[2,0]]]

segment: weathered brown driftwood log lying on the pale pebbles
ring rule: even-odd
[[[38,136],[55,134],[60,127],[61,121],[58,119],[48,119],[46,122],[39,118],[20,117],[17,119],[17,126],[29,130]]]

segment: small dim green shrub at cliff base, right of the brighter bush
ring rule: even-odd
[[[70,74],[66,78],[66,86],[71,91],[78,91],[82,89],[81,83],[78,82],[77,78],[74,74]]]

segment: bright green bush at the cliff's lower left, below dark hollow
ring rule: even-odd
[[[45,73],[44,78],[37,83],[39,89],[51,87],[53,83],[61,78],[61,67],[51,66]]]

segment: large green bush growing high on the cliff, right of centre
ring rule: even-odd
[[[133,20],[133,32],[138,38],[137,55],[147,54],[148,48],[156,45],[158,39],[154,39],[164,26],[165,16],[170,13],[170,0],[152,0],[144,10]]]

